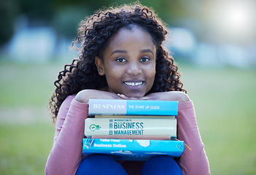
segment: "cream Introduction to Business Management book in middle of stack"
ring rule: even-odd
[[[177,119],[87,118],[85,136],[169,136],[177,137]]]

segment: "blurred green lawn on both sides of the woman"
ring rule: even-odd
[[[256,174],[256,70],[179,68],[212,174]],[[44,174],[54,134],[47,103],[61,69],[0,64],[1,174]]]

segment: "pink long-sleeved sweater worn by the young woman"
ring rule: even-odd
[[[79,163],[83,158],[82,139],[85,138],[84,120],[87,117],[88,104],[75,101],[74,96],[68,96],[63,101],[58,112],[53,149],[50,151],[47,159],[45,174],[76,174]],[[179,103],[177,123],[177,138],[185,141],[185,144],[192,149],[190,151],[185,147],[182,156],[177,160],[183,174],[210,174],[209,162],[198,131],[192,101]],[[128,174],[133,175],[139,174],[143,163],[132,161],[120,162]]]

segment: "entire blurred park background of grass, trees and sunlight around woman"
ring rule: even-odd
[[[77,57],[69,50],[77,25],[130,2],[0,1],[1,174],[44,174],[55,131],[48,101],[58,72]],[[195,105],[212,174],[256,174],[256,1],[140,2],[170,28],[166,47]]]

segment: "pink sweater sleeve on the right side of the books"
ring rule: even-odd
[[[185,144],[191,148],[190,150],[185,147],[181,157],[177,160],[183,174],[210,174],[209,161],[198,130],[192,101],[179,104],[177,123],[177,138],[185,141]]]

